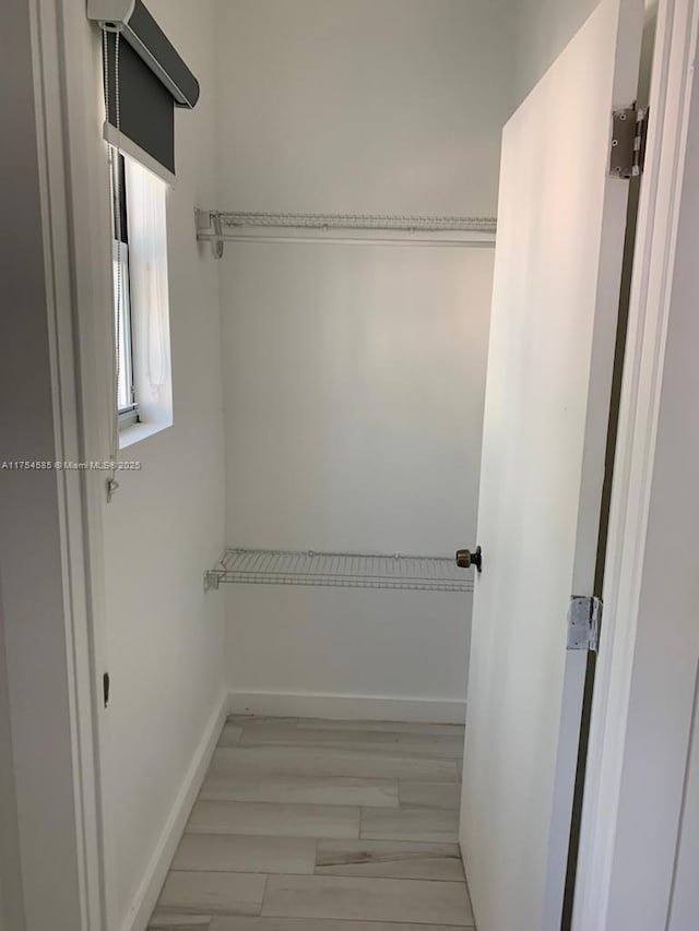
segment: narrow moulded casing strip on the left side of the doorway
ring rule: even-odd
[[[61,13],[58,4],[32,0],[32,44],[36,99],[38,166],[44,226],[51,355],[54,429],[57,458],[84,458],[75,395],[78,360],[73,338],[70,191],[67,184],[63,126]],[[94,673],[94,629],[82,481],[56,474],[60,503],[60,540],[67,665],[70,680],[73,799],[79,838],[81,919],[84,931],[106,929],[98,763],[98,683]],[[42,735],[35,738],[40,740]],[[60,803],[60,800],[57,800]],[[78,931],[78,929],[76,929]]]

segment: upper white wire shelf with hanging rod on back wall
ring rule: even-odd
[[[487,248],[495,243],[497,222],[495,217],[198,210],[196,225],[198,240],[211,242],[214,256],[221,259],[229,241]]]

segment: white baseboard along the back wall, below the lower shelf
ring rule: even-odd
[[[334,720],[400,720],[463,724],[466,703],[459,699],[408,699],[383,695],[230,692],[228,714],[311,717]]]

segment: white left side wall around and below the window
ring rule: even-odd
[[[201,99],[176,110],[167,204],[174,426],[123,451],[142,468],[119,475],[104,513],[115,929],[223,690],[223,604],[202,587],[224,541],[218,278],[193,227],[194,205],[216,200],[215,21],[206,0],[150,0],[149,9],[200,80]]]

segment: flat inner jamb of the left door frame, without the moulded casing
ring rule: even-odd
[[[57,33],[57,70],[60,93],[54,114],[57,126],[49,143],[52,164],[60,166],[66,198],[67,232],[64,248],[70,254],[72,282],[72,332],[76,370],[61,372],[66,391],[78,392],[80,451],[70,456],[76,462],[99,462],[111,457],[111,236],[109,216],[109,172],[106,146],[100,138],[104,116],[100,82],[100,34],[87,21],[83,4],[70,0],[38,4],[42,15],[55,11],[51,29]],[[52,48],[43,55],[54,55]],[[58,178],[58,171],[57,171]],[[104,313],[95,312],[104,308]],[[85,386],[90,386],[86,390]],[[98,857],[93,869],[100,887],[100,923],[90,931],[114,931],[116,920],[114,817],[109,811],[112,796],[109,783],[115,778],[108,767],[108,709],[102,701],[102,676],[109,669],[106,629],[104,573],[105,475],[81,472],[82,521],[85,534],[85,583],[90,629],[87,672],[92,680],[92,720],[96,779],[96,819]],[[86,714],[83,707],[81,714]]]

